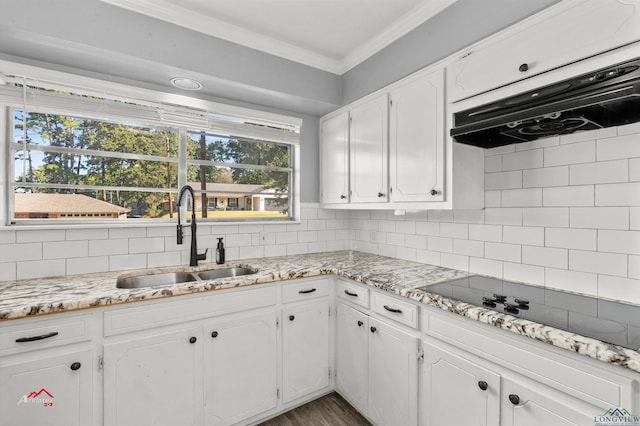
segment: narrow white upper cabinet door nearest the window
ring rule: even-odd
[[[320,125],[320,201],[349,202],[349,113],[322,121]]]

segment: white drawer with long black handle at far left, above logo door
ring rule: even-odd
[[[91,315],[57,314],[0,322],[0,356],[91,340]]]

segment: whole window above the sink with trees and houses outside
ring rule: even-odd
[[[176,217],[185,184],[195,200],[183,204],[198,218],[296,218],[297,119],[270,121],[259,111],[254,119],[232,107],[242,114],[214,114],[0,77],[13,129],[6,224],[167,220]]]

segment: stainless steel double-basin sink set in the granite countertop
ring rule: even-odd
[[[116,280],[117,288],[143,288],[157,287],[161,285],[182,284],[194,281],[209,281],[219,278],[239,277],[252,275],[258,272],[256,269],[232,267],[208,269],[194,272],[163,272],[159,274],[124,275]]]

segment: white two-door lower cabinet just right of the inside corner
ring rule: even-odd
[[[417,338],[337,304],[336,388],[376,425],[415,425]]]

